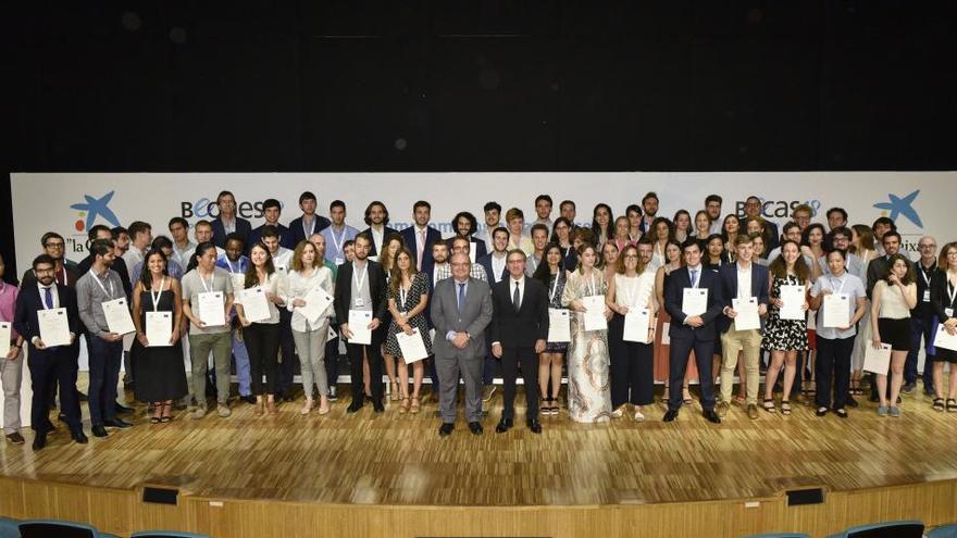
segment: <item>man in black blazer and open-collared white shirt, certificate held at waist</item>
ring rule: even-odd
[[[339,265],[336,275],[334,305],[339,329],[346,337],[346,353],[349,356],[349,370],[352,380],[352,403],[347,410],[355,413],[362,409],[365,392],[362,383],[362,355],[369,359],[369,378],[372,380],[372,409],[382,413],[382,343],[388,328],[388,311],[386,310],[387,289],[385,272],[377,262],[369,260],[369,245],[372,241],[365,234],[356,237],[355,255],[351,263]],[[372,313],[372,343],[351,343],[349,328],[349,311],[362,310]]]

